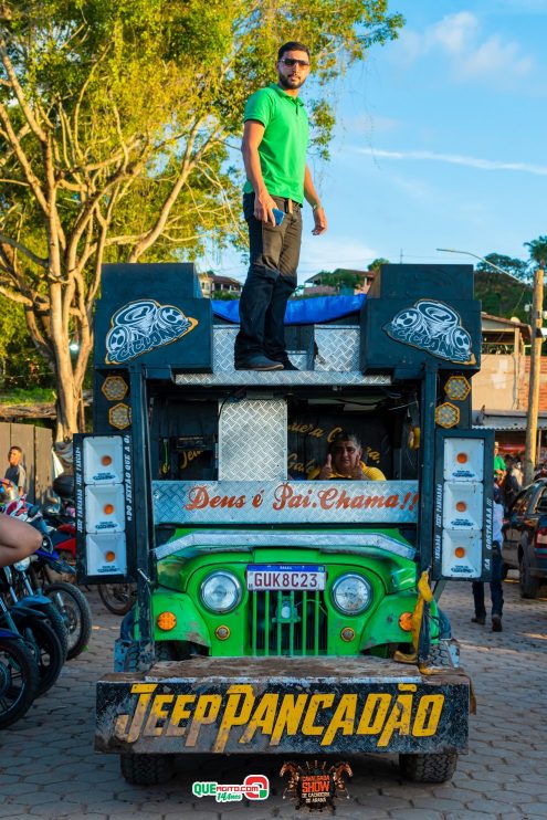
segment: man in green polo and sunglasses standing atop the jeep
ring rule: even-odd
[[[253,94],[244,114],[243,213],[250,266],[240,299],[234,348],[238,370],[297,369],[287,356],[284,319],[296,288],[304,198],[314,213],[312,233],[317,236],[327,230],[306,165],[309,126],[298,99],[309,74],[309,50],[298,42],[285,43],[277,53],[276,69],[277,83]]]

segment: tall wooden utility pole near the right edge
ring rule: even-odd
[[[544,309],[544,261],[534,273],[534,297],[532,304],[530,380],[528,389],[528,414],[526,422],[526,449],[524,454],[524,485],[534,480],[537,449],[537,416],[539,411],[539,379],[541,375],[541,335]]]

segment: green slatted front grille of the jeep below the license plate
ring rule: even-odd
[[[319,655],[327,651],[324,592],[250,592],[253,655]]]

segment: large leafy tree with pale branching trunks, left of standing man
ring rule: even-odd
[[[229,140],[250,91],[275,78],[280,43],[314,54],[326,154],[324,85],[402,22],[387,0],[0,3],[0,293],[54,372],[57,438],[77,429],[103,262],[236,239]]]

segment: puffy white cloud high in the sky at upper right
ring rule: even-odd
[[[407,31],[401,42],[408,62],[435,52],[445,54],[459,80],[483,77],[507,83],[530,74],[534,69],[533,59],[518,42],[498,34],[484,38],[481,21],[470,11],[448,14],[421,34]]]

